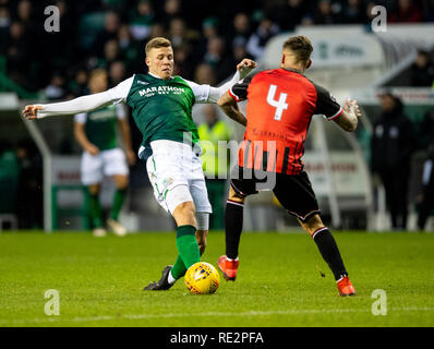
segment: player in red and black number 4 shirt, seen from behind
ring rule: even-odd
[[[324,115],[351,132],[361,113],[355,100],[347,101],[342,108],[325,88],[303,75],[311,65],[312,50],[309,38],[289,38],[284,44],[279,69],[239,82],[218,101],[230,118],[246,125],[226,206],[226,255],[220,256],[218,266],[227,280],[236,279],[244,201],[258,190],[273,190],[317,244],[335,276],[339,294],[352,296],[354,288],[335,239],[320,217],[301,157],[314,115]],[[237,105],[245,99],[246,118]]]

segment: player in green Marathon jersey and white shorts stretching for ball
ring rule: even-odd
[[[256,63],[244,59],[234,76],[220,87],[198,85],[172,76],[173,50],[168,39],[156,37],[145,48],[148,74],[134,74],[106,92],[49,105],[29,105],[27,119],[88,112],[125,103],[143,134],[138,156],[146,167],[157,202],[177,224],[178,258],[166,266],[161,278],[145,290],[167,290],[201,260],[212,213],[200,158],[197,128],[192,119],[195,103],[216,104],[220,96],[244,79]]]

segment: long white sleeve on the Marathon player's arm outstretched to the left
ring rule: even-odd
[[[132,82],[133,77],[130,77],[121,82],[118,86],[99,94],[82,96],[68,101],[40,105],[43,109],[37,111],[37,118],[87,112],[111,104],[125,101]]]

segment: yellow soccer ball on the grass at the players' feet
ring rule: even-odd
[[[186,270],[184,282],[191,293],[214,293],[220,285],[220,275],[212,264],[197,262]]]

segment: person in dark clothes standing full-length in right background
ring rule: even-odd
[[[382,115],[372,136],[372,169],[386,191],[387,208],[394,230],[407,228],[408,180],[414,135],[411,121],[403,115],[398,97],[381,96]]]

